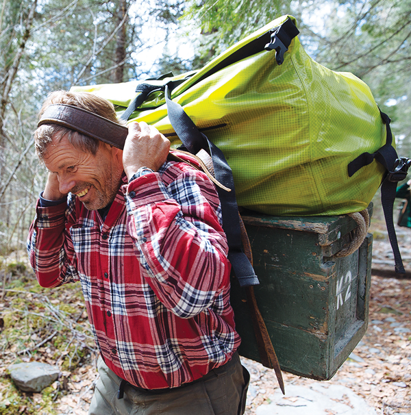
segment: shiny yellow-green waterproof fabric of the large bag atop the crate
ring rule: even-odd
[[[364,82],[314,62],[295,38],[280,66],[274,51],[262,51],[192,86],[228,54],[287,18],[271,22],[195,72],[173,90],[173,101],[225,154],[239,206],[283,216],[358,212],[369,205],[384,168],[374,161],[348,177],[347,165],[386,142],[386,127]],[[137,84],[72,90],[120,105],[120,115],[137,95]],[[172,134],[164,93],[150,98],[131,120]],[[169,138],[173,147],[181,144],[177,136]]]

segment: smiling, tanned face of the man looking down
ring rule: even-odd
[[[76,149],[64,136],[53,138],[43,157],[47,170],[57,175],[60,192],[75,194],[88,210],[110,204],[121,186],[123,166],[101,144],[96,155]]]

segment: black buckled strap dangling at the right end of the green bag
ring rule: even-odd
[[[393,147],[393,134],[390,127],[390,118],[384,112],[381,112],[382,121],[386,125],[387,136],[386,144],[375,153],[362,153],[348,165],[348,175],[351,177],[363,166],[368,166],[377,160],[386,168],[386,176],[381,185],[381,203],[384,211],[384,218],[388,232],[388,238],[393,249],[395,260],[395,272],[405,274],[401,253],[399,252],[397,234],[394,227],[394,201],[397,191],[397,183],[407,177],[408,168],[410,168],[411,160],[407,158],[398,158],[397,151]]]

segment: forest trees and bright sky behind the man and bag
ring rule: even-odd
[[[45,169],[32,131],[52,90],[174,75],[283,14],[319,63],[366,81],[411,155],[411,0],[0,0],[0,255],[24,249]]]

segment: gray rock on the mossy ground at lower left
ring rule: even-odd
[[[60,375],[58,367],[40,362],[13,364],[8,370],[16,386],[23,392],[41,392]]]

